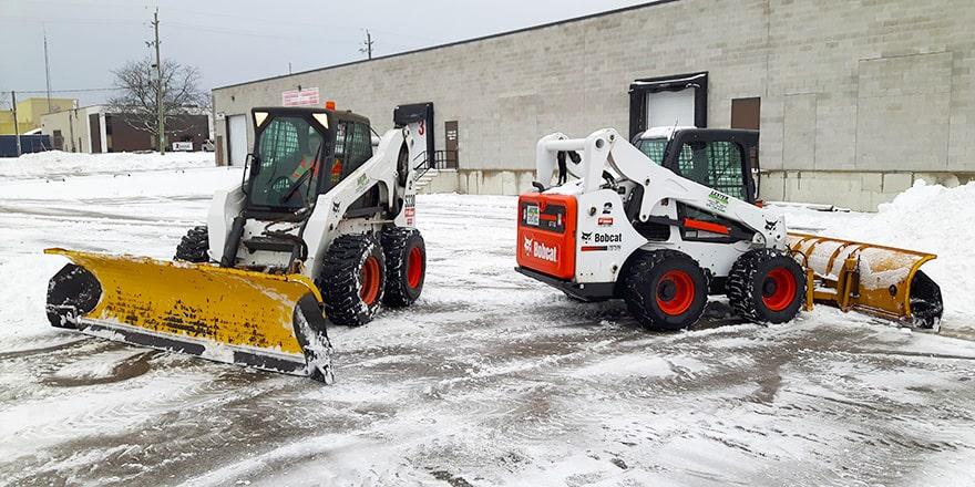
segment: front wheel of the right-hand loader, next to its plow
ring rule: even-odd
[[[786,271],[787,278],[791,276],[796,284],[794,296],[781,309],[770,308],[764,300],[768,292],[776,290],[769,274],[777,269]],[[739,317],[756,323],[784,323],[792,321],[805,303],[805,273],[802,266],[782,250],[749,250],[731,266],[727,293],[728,304]]]

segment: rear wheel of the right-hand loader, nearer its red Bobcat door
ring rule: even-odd
[[[708,278],[697,261],[677,250],[638,252],[629,262],[623,282],[623,299],[630,314],[655,331],[682,330],[697,323],[708,304]],[[671,276],[671,271],[686,274],[691,286],[689,307],[674,314],[661,309],[657,299],[673,289],[674,281],[664,279]]]

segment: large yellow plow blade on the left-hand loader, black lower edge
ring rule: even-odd
[[[321,296],[304,276],[64,249],[48,286],[58,328],[331,382]]]

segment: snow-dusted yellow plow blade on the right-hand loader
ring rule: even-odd
[[[807,234],[789,234],[789,247],[807,269],[809,305],[828,302],[920,328],[941,320],[941,288],[920,270],[933,253]]]

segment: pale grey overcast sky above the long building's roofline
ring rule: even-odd
[[[646,0],[0,0],[0,91],[104,89],[150,54],[158,7],[164,58],[197,66],[205,89],[424,48]],[[107,92],[55,93],[100,103]],[[23,93],[21,96],[43,96]],[[8,94],[9,97],[9,94]]]

